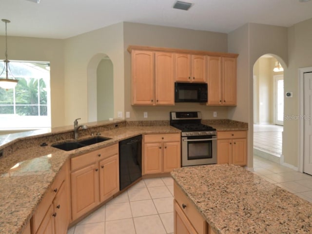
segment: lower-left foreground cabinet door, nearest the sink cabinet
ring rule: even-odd
[[[66,182],[61,185],[58,194],[53,201],[55,216],[55,233],[66,234],[69,223],[69,211],[67,205]]]

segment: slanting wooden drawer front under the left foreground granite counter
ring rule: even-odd
[[[37,232],[45,214],[47,213],[51,203],[56,196],[57,192],[60,189],[60,186],[65,181],[66,178],[66,165],[62,167],[59,174],[57,175],[56,179],[52,183],[51,187],[48,189],[47,194],[43,197],[42,201],[40,202],[37,210],[35,211],[32,222],[33,222],[33,229]]]

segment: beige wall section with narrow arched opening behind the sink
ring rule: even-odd
[[[123,23],[117,23],[65,40],[65,124],[75,118],[88,122],[88,105],[96,100],[96,71],[105,55],[114,67],[114,106],[124,110]],[[100,56],[98,56],[100,55]],[[88,85],[94,96],[88,96]],[[90,91],[89,91],[90,94]],[[95,105],[96,106],[96,105]]]

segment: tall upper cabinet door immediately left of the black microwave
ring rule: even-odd
[[[174,105],[174,55],[155,53],[155,98],[156,105]]]

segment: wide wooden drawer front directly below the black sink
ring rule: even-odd
[[[81,156],[73,157],[71,159],[71,170],[77,170],[81,167],[85,167],[98,160],[107,158],[112,155],[118,154],[118,144],[105,147],[100,150],[92,151]]]

